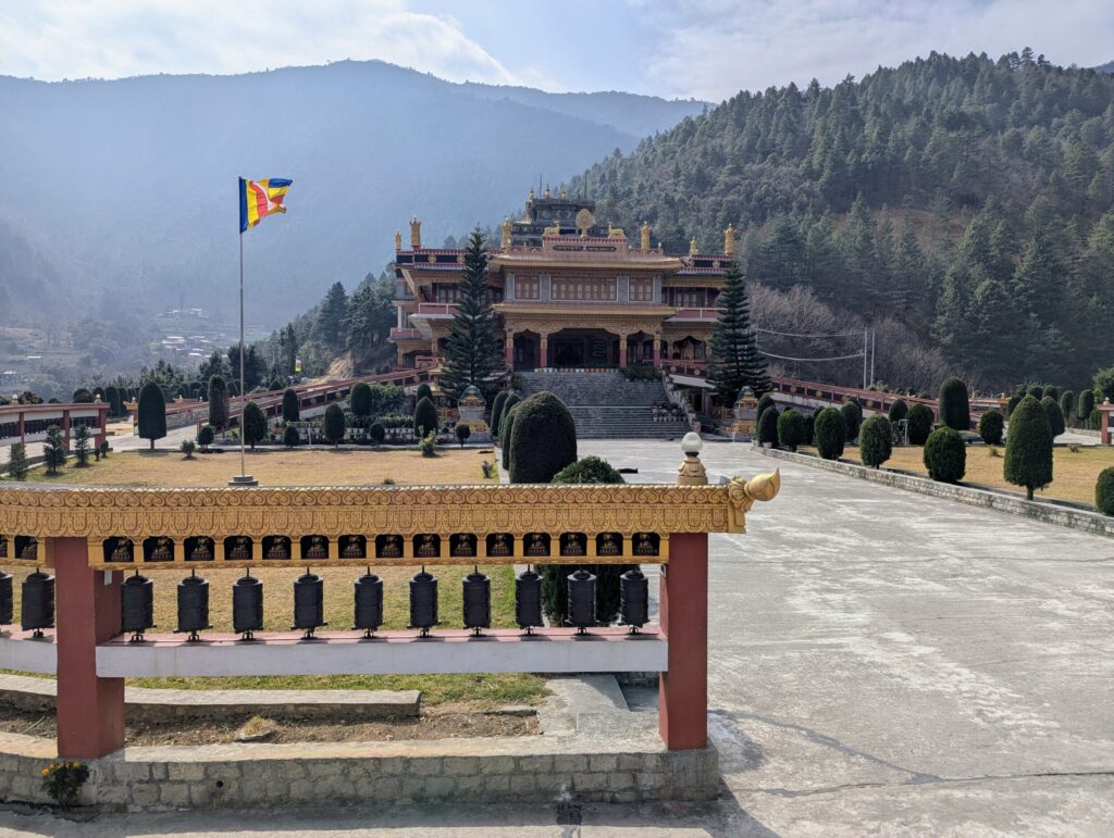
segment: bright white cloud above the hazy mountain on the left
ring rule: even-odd
[[[233,73],[344,58],[521,81],[457,19],[404,0],[0,0],[0,73],[11,76]]]

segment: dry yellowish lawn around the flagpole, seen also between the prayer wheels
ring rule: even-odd
[[[398,484],[485,483],[480,463],[490,453],[477,448],[444,447],[440,456],[422,457],[413,448],[258,451],[247,454],[247,471],[261,485],[359,485],[381,484],[385,479]],[[87,469],[67,465],[57,477],[47,477],[41,469],[29,474],[33,482],[82,485],[139,486],[224,486],[240,471],[238,452],[198,454],[184,460],[169,451],[120,452]],[[404,629],[409,615],[410,578],[418,568],[372,568],[383,579],[384,629]],[[439,617],[442,628],[462,628],[461,580],[467,566],[437,566]],[[491,623],[515,625],[515,573],[508,565],[481,566],[491,578]],[[16,613],[19,613],[20,582],[27,570],[14,570]],[[215,631],[232,631],[232,584],[243,571],[206,568],[209,581],[209,621]],[[263,581],[264,625],[267,631],[289,631],[293,620],[293,584],[300,570],[260,568],[253,575]],[[325,613],[329,630],[352,625],[352,583],[363,571],[356,568],[319,568],[324,579]],[[178,574],[150,573],[155,583],[156,632],[169,632],[177,625]],[[164,678],[129,681],[139,687],[175,689],[418,689],[430,704],[465,702],[476,707],[507,703],[537,703],[548,694],[545,680],[531,674],[459,676],[322,676],[267,678]]]

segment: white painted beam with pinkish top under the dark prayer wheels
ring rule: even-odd
[[[576,635],[546,629],[527,637],[499,630],[473,638],[463,631],[418,638],[390,632],[372,640],[349,632],[314,640],[297,634],[148,635],[143,643],[120,638],[97,647],[101,678],[185,676],[440,674],[453,672],[661,672],[667,643],[656,630],[627,634],[597,629]]]

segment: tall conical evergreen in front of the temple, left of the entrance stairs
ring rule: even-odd
[[[441,359],[441,388],[456,401],[465,387],[475,384],[490,398],[506,365],[502,339],[487,293],[487,246],[476,227],[468,236],[465,275],[460,280],[460,303],[449,326]]]

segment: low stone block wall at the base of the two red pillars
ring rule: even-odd
[[[52,740],[0,735],[0,800],[48,802]],[[516,737],[409,742],[125,748],[90,760],[84,805],[165,810],[303,805],[704,800],[711,747],[667,751],[652,726],[606,741]]]

